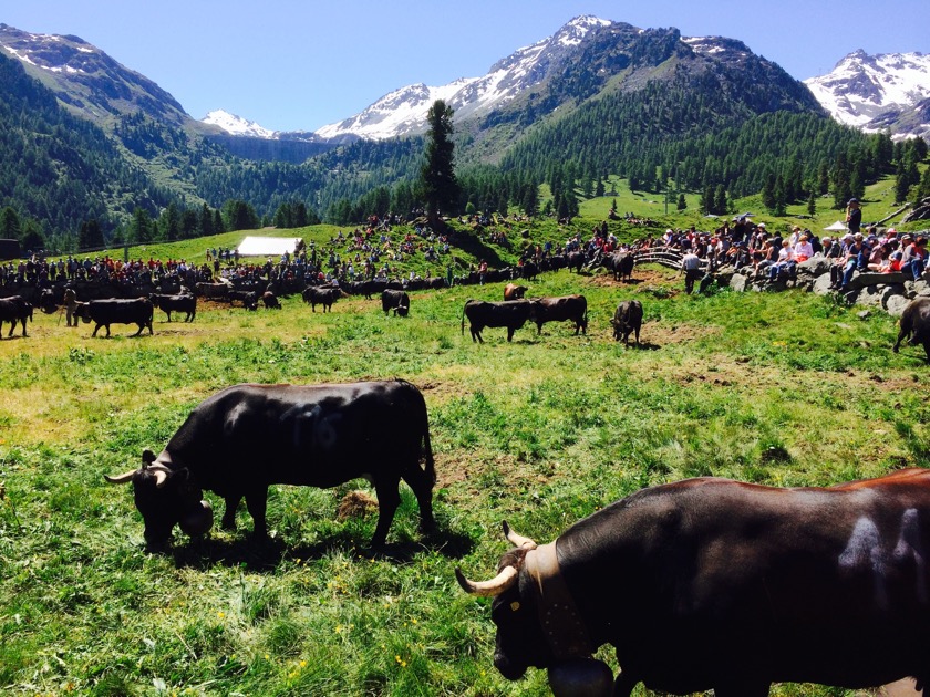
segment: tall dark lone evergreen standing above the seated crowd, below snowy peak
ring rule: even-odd
[[[453,162],[452,116],[455,112],[443,100],[436,100],[426,113],[426,162],[420,170],[420,190],[426,205],[430,225],[438,227],[443,211],[455,214],[458,181]]]

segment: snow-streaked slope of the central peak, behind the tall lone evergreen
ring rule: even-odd
[[[421,133],[426,127],[426,112],[436,100],[444,100],[452,106],[457,121],[487,113],[544,80],[550,65],[581,43],[589,32],[612,23],[596,17],[578,17],[554,35],[498,61],[486,75],[461,77],[441,86],[401,87],[360,114],[323,126],[316,133],[326,138],[351,134],[371,139]]]

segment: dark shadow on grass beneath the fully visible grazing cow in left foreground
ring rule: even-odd
[[[423,552],[434,552],[448,559],[462,559],[472,552],[474,543],[465,534],[440,529],[424,534],[420,540],[388,542],[381,549],[372,549],[369,541],[360,544],[351,531],[339,531],[312,544],[288,545],[280,538],[256,539],[245,533],[234,539],[204,538],[187,544],[175,544],[155,553],[170,554],[179,569],[207,570],[217,564],[224,566],[247,566],[252,572],[275,571],[290,559],[317,560],[333,553],[355,559],[386,559],[394,563],[407,563]]]

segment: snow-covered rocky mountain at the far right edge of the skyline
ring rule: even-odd
[[[804,83],[837,121],[867,132],[930,136],[930,121],[906,118],[930,98],[930,55],[850,53],[826,75]],[[899,127],[900,126],[900,127]]]

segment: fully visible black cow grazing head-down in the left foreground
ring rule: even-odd
[[[236,507],[245,498],[261,539],[270,485],[330,488],[360,477],[378,495],[373,547],[388,538],[401,479],[416,495],[423,529],[434,528],[426,403],[410,383],[227,387],[194,408],[158,457],[146,450],[140,469],[106,479],[133,482],[145,539],[155,545],[168,540],[175,523],[190,535],[210,529],[203,489],[226,500],[228,529],[235,529]]]

